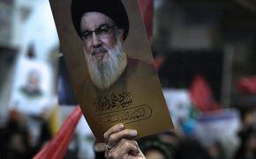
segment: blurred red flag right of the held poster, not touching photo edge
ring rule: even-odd
[[[192,104],[202,112],[215,111],[220,108],[213,98],[213,93],[202,76],[195,76],[190,88]]]

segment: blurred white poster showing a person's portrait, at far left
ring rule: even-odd
[[[55,104],[52,97],[52,70],[45,61],[20,57],[14,71],[10,109],[27,115],[40,115]],[[53,104],[54,103],[54,104]]]

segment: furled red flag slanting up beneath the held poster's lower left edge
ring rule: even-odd
[[[77,106],[74,111],[64,120],[64,125],[60,128],[56,136],[46,143],[41,151],[34,156],[34,159],[62,159],[66,154],[66,150],[70,141],[72,141],[72,134],[82,115],[80,107]]]

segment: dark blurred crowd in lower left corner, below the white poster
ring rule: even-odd
[[[34,120],[39,134],[34,135],[29,125]],[[1,158],[32,158],[52,138],[49,121],[44,114],[29,117],[12,110],[3,127],[0,128]]]

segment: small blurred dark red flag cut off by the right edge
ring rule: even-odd
[[[236,87],[241,93],[256,94],[256,76],[241,77]]]

